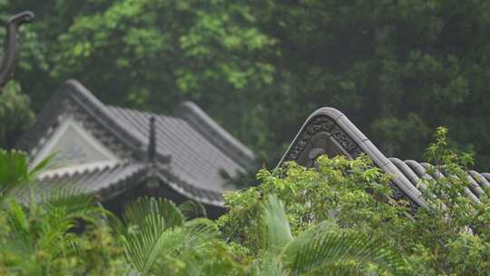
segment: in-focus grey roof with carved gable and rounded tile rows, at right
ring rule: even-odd
[[[436,173],[427,173],[434,171],[429,170],[432,166],[428,163],[417,163],[413,160],[403,162],[397,158],[387,158],[345,114],[328,107],[320,108],[309,116],[289,145],[288,151],[282,156],[279,165],[295,161],[311,167],[320,154],[342,154],[354,159],[362,153],[366,153],[380,169],[393,176],[394,196],[408,199],[416,207],[426,206],[420,192],[420,189],[423,189],[422,178],[447,177],[445,173],[437,170]],[[474,202],[479,202],[478,197],[485,188],[490,187],[490,173],[469,171],[467,179],[471,185],[466,188],[466,196]]]

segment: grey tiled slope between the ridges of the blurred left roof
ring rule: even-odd
[[[204,139],[190,123],[178,117],[142,113],[119,107],[105,107],[107,113],[118,122],[126,132],[135,135],[145,143],[149,140],[149,120],[155,118],[157,153],[171,156],[171,170],[176,175],[200,182],[214,192],[222,191],[223,179],[220,170],[230,173],[243,172],[243,166],[220,151],[213,143]]]

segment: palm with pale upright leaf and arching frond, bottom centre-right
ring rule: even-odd
[[[339,232],[332,222],[320,222],[293,237],[284,206],[274,195],[262,208],[266,230],[262,235],[267,242],[260,253],[260,275],[306,275],[351,260],[374,262],[396,274],[406,266],[397,253],[369,241],[362,233]]]

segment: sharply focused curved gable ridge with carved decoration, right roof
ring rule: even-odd
[[[394,197],[405,197],[417,206],[426,206],[421,192],[400,172],[397,166],[369,141],[358,127],[337,109],[323,107],[312,113],[282,156],[279,165],[295,161],[310,167],[320,154],[344,154],[349,159],[366,153],[385,173],[395,175],[392,186]]]

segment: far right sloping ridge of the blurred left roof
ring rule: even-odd
[[[223,153],[229,155],[237,163],[249,169],[258,167],[255,154],[246,145],[224,130],[219,123],[214,121],[197,104],[191,101],[183,102],[175,109],[174,114],[190,123],[195,130],[207,137]]]

